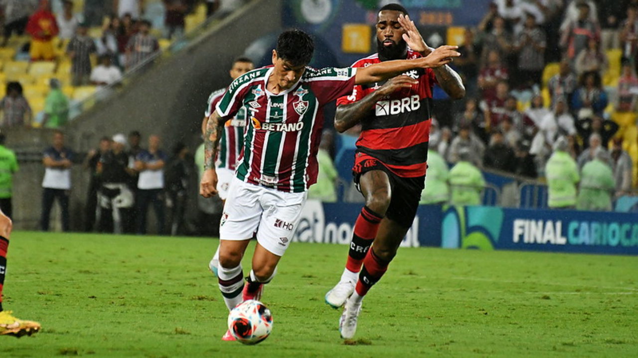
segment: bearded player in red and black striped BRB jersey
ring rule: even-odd
[[[399,4],[379,11],[376,39],[377,53],[352,67],[417,59],[433,51]],[[385,83],[357,85],[350,96],[337,101],[336,129],[362,126],[352,171],[366,199],[341,280],[325,296],[330,306],[344,306],[339,321],[343,338],[354,336],[363,297],[385,273],[416,215],[425,185],[434,84],[453,99],[465,95],[461,78],[447,62],[405,72]]]

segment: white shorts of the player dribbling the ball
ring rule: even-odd
[[[307,192],[282,192],[233,178],[219,223],[219,238],[249,240],[256,231],[259,245],[283,256],[307,196]]]

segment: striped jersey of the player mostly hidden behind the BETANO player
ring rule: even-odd
[[[223,96],[226,89],[218,89],[208,97],[208,106],[204,112],[205,117],[209,117],[215,111],[217,103]],[[244,128],[246,127],[246,108],[240,108],[237,115],[228,120],[224,125],[224,131],[219,138],[219,150],[215,159],[216,168],[226,168],[232,171],[237,166],[237,161],[241,155],[244,144]]]

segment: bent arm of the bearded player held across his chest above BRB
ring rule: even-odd
[[[377,90],[363,97],[360,101],[350,104],[341,104],[337,107],[334,115],[334,128],[343,133],[354,127],[363,118],[365,118],[371,110],[375,108],[375,104],[382,97],[391,94],[397,89],[410,88],[417,81],[409,76],[397,76],[391,78]],[[354,94],[353,94],[354,96]]]

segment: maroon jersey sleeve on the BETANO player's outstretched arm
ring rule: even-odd
[[[323,68],[308,77],[319,103],[326,104],[346,96],[355,85],[357,68]]]

